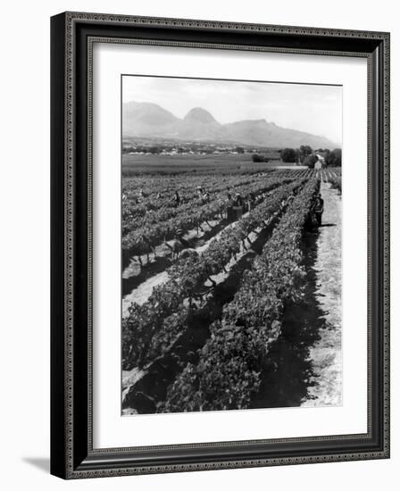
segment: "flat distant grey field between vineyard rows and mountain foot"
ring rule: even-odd
[[[279,160],[253,162],[251,154],[222,155],[122,155],[122,174],[177,174],[181,172],[247,173],[283,166]]]

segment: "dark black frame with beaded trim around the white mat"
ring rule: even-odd
[[[91,49],[99,40],[367,58],[368,433],[146,449],[93,448],[90,116]],[[389,34],[66,12],[51,20],[51,46],[51,472],[78,479],[387,458]]]

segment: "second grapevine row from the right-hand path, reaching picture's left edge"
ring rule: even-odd
[[[169,280],[162,286],[154,287],[145,304],[129,307],[129,316],[122,321],[125,370],[132,366],[142,368],[168,350],[182,330],[191,300],[196,298],[207,279],[224,269],[230,259],[240,252],[246,237],[255,229],[265,226],[264,221],[279,211],[288,196],[302,183],[295,181],[276,188],[235,226],[224,230],[218,239],[213,239],[204,254],[187,251],[187,255],[168,270]],[[184,306],[185,299],[189,299],[188,309]]]

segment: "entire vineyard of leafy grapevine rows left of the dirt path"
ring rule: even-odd
[[[124,414],[274,405],[270,358],[308,295],[325,189],[339,196],[340,169],[123,179]]]

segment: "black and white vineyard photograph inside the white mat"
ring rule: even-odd
[[[342,87],[121,76],[121,413],[342,404]]]

